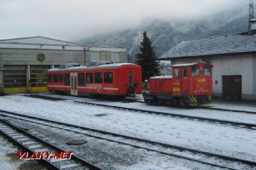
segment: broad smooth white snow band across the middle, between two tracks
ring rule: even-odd
[[[66,99],[72,98],[68,96],[63,97]],[[86,98],[80,98],[80,100],[96,101],[95,99]],[[129,104],[131,107],[143,109],[143,104],[141,103],[137,105],[138,103],[101,102],[117,105]],[[151,106],[144,105],[144,108],[148,109],[149,107]],[[241,159],[256,160],[255,130],[137,112],[117,111],[115,109],[71,103],[70,101],[34,99],[20,94],[2,96],[0,98],[0,109],[150,139],[151,141],[234,156]],[[155,109],[170,112],[168,107],[155,107]],[[232,116],[237,115],[237,113],[200,111],[200,109],[172,108],[171,112],[183,114],[204,113],[207,116],[217,114],[217,117],[226,117],[231,120],[233,119]],[[106,114],[106,116],[95,116],[96,114]],[[255,117],[256,115],[254,114],[248,114],[248,117],[241,118],[245,122],[252,122],[251,120],[255,122]],[[238,118],[236,119],[239,120]]]

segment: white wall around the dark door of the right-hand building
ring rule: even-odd
[[[222,75],[242,75],[242,99],[256,100],[256,54],[205,58],[213,65],[213,95],[222,97]],[[172,59],[171,65],[203,58]],[[216,80],[218,81],[215,84]]]

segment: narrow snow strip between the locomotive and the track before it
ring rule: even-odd
[[[37,94],[42,96],[51,96],[57,97],[61,99],[69,99],[69,100],[76,100],[76,101],[86,101],[90,103],[99,103],[105,105],[114,105],[119,107],[125,108],[137,108],[143,109],[146,111],[158,111],[164,113],[175,113],[175,114],[182,114],[188,116],[195,116],[195,117],[206,117],[206,118],[214,118],[219,120],[227,120],[227,121],[234,121],[234,122],[243,122],[249,124],[256,124],[256,114],[253,113],[237,113],[237,112],[226,112],[226,111],[214,111],[214,110],[207,110],[207,109],[197,109],[197,108],[177,108],[172,106],[158,106],[158,105],[148,105],[146,103],[122,103],[112,100],[97,100],[93,98],[86,98],[86,97],[75,97],[75,96],[62,96],[62,95],[52,95],[52,94]],[[142,96],[138,96],[138,101],[142,100]],[[237,109],[239,111],[253,111],[256,112],[256,105],[227,105],[227,104],[220,104],[214,103],[212,105],[207,105],[207,107],[214,107],[214,108],[228,108],[230,109]]]

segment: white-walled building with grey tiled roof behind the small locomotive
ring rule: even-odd
[[[252,20],[255,24],[256,20]],[[250,32],[185,40],[159,59],[213,65],[213,96],[256,100],[256,25]]]

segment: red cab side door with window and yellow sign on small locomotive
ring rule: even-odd
[[[174,95],[181,95],[181,90],[182,90],[181,68],[174,67],[174,72],[172,75],[174,76],[174,82],[172,84],[173,93]]]

